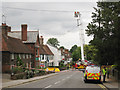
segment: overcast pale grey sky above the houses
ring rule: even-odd
[[[96,7],[96,0],[68,2],[13,2],[2,3],[2,13],[6,16],[6,23],[12,30],[21,30],[21,24],[27,24],[28,30],[39,30],[44,37],[44,44],[49,38],[57,38],[60,46],[70,49],[73,45],[80,46],[80,31],[84,31],[84,42],[88,44],[92,36],[85,34],[91,15]],[[74,12],[81,14],[82,26],[77,26]]]

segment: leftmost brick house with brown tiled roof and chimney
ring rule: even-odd
[[[31,67],[32,51],[22,43],[20,39],[8,36],[8,32],[11,30],[6,24],[2,24],[0,27],[2,30],[2,72],[9,72],[16,66],[17,58],[19,57],[26,67]]]

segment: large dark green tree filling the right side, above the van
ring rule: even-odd
[[[92,22],[87,26],[88,36],[93,35],[91,45],[97,49],[99,64],[120,64],[120,2],[98,2],[92,14]],[[119,66],[119,65],[118,65]]]

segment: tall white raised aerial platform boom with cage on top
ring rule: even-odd
[[[80,20],[81,14],[80,12],[75,12],[75,16],[77,19],[77,26],[80,28],[80,26],[82,26],[82,22]],[[80,29],[80,43],[81,43],[81,57],[82,57],[82,61],[84,62],[84,47],[83,47],[83,43],[84,43],[84,32],[83,29]]]

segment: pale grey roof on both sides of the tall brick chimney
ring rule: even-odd
[[[24,41],[23,43],[35,43],[38,34],[38,31],[27,31],[27,41]],[[8,36],[21,39],[21,31],[8,32]]]

